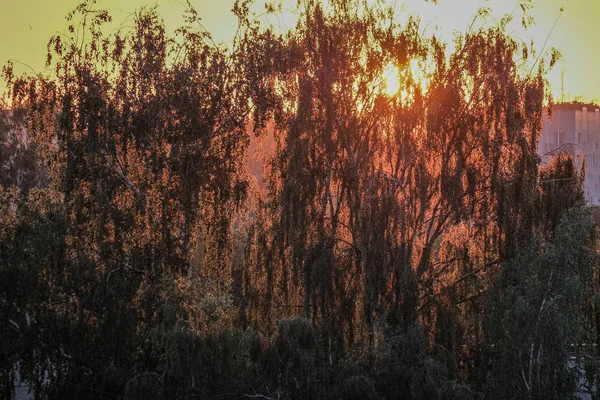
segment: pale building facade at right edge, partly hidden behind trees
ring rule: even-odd
[[[571,153],[577,165],[585,159],[584,190],[589,205],[600,205],[600,106],[586,103],[559,103],[552,117],[544,112],[538,153],[542,164],[553,154]]]

